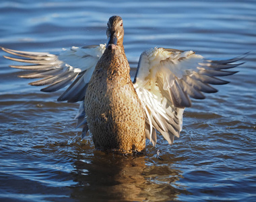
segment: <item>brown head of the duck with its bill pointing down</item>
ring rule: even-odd
[[[106,28],[106,36],[108,36],[106,48],[108,48],[108,50],[113,50],[116,46],[123,46],[124,34],[122,18],[117,15],[110,17]]]

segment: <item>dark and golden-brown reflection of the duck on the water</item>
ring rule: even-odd
[[[181,170],[172,168],[168,158],[159,160],[152,154],[121,156],[92,151],[83,152],[73,162],[71,198],[79,201],[172,201],[188,194],[175,182],[183,178]],[[86,154],[88,155],[88,154]]]

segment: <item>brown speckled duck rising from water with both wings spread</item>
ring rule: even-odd
[[[68,86],[57,100],[81,102],[75,119],[82,138],[91,134],[96,149],[122,154],[145,151],[146,138],[155,146],[158,135],[172,145],[191,98],[218,92],[212,85],[227,84],[219,77],[237,73],[226,70],[246,57],[210,60],[193,50],[150,48],[141,53],[132,81],[124,33],[122,18],[114,15],[107,23],[106,44],[73,46],[59,55],[1,49],[14,56],[5,59],[30,63],[10,67],[33,71],[20,77],[39,79],[29,84],[46,86],[42,92]]]

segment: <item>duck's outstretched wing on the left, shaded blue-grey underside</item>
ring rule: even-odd
[[[105,45],[84,46],[82,48],[73,46],[59,55],[11,50],[3,47],[1,49],[16,56],[4,56],[6,59],[32,63],[32,65],[10,66],[32,71],[32,73],[20,75],[20,77],[41,78],[29,83],[30,85],[46,86],[41,91],[55,92],[71,83],[69,88],[58,98],[58,101],[77,102],[84,99],[88,82],[98,59],[105,50]]]

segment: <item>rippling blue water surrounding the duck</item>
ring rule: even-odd
[[[117,156],[79,141],[78,104],[28,86],[0,52],[0,200],[256,201],[256,1],[1,1],[0,45],[58,53],[104,43],[116,14],[132,75],[154,46],[210,59],[251,53],[218,94],[193,100],[174,145],[160,138],[143,156]]]

